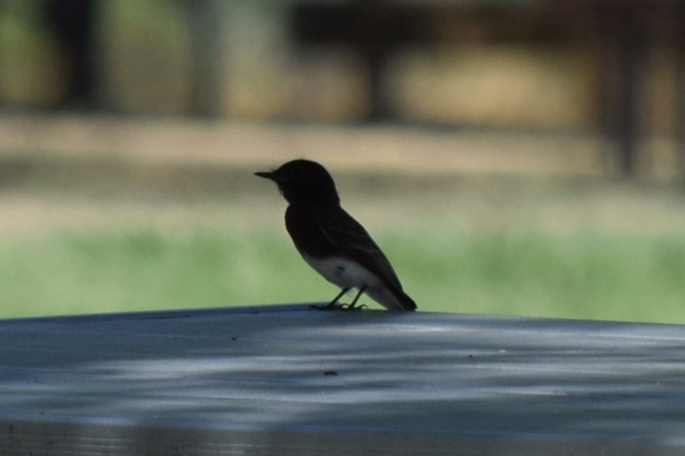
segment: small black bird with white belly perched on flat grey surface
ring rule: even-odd
[[[355,309],[367,293],[389,311],[414,311],[417,304],[402,291],[388,258],[369,233],[340,206],[331,174],[319,163],[288,162],[273,172],[255,172],[275,181],[289,203],[286,228],[305,261],[342,288],[322,309],[336,308],[344,293],[359,290],[346,309]],[[342,307],[342,306],[341,306]]]

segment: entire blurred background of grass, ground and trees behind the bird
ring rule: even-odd
[[[683,323],[683,71],[665,0],[0,0],[0,317],[332,299],[306,157],[420,310]]]

